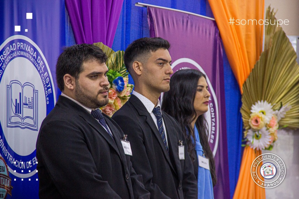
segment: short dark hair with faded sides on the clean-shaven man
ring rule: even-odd
[[[169,42],[165,39],[162,39],[161,37],[154,37],[154,38],[144,37],[132,42],[125,50],[123,56],[126,68],[129,71],[129,73],[132,75],[131,70],[132,70],[133,62],[147,61],[149,54],[155,52],[160,48],[166,50],[170,48]]]

